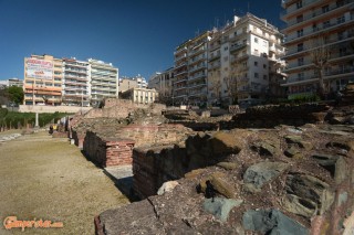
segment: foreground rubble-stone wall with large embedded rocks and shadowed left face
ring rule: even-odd
[[[148,199],[100,214],[97,234],[353,234],[353,126],[199,132],[133,154]]]

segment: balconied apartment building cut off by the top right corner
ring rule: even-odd
[[[282,7],[288,97],[317,93],[320,77],[326,94],[354,81],[354,0],[283,0]],[[326,60],[322,73],[314,67],[320,49]]]

